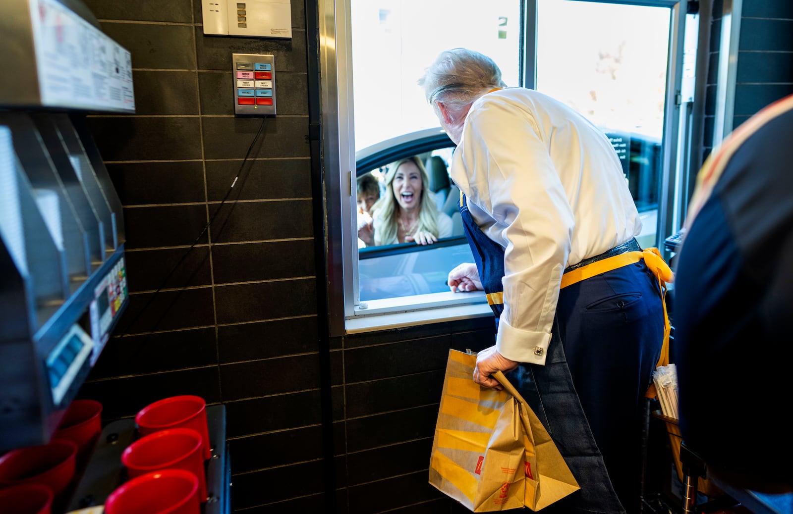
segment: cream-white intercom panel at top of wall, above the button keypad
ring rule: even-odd
[[[289,0],[201,0],[201,13],[205,34],[292,37]]]

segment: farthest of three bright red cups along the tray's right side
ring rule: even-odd
[[[201,434],[204,459],[212,457],[209,449],[209,425],[206,402],[200,396],[172,396],[146,405],[135,416],[141,436],[166,428],[193,428]]]

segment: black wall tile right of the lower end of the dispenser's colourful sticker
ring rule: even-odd
[[[212,289],[183,289],[129,295],[116,335],[186,329],[213,324]]]

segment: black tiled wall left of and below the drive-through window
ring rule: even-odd
[[[457,508],[427,483],[443,370],[449,348],[492,344],[492,318],[331,338],[323,359],[307,7],[272,40],[204,36],[197,0],[85,2],[132,52],[136,113],[88,117],[125,208],[131,301],[80,396],[105,423],[174,394],[223,403],[235,512]],[[278,116],[245,166],[262,120],[233,114],[232,53],[275,56]]]

